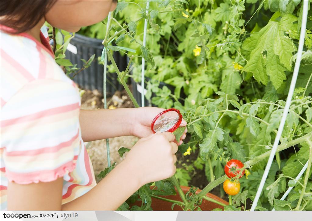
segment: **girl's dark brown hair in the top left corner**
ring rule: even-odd
[[[32,29],[57,0],[1,0],[1,24],[22,33]]]

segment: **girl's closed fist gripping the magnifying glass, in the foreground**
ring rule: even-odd
[[[139,186],[171,177],[175,171],[178,146],[173,133],[163,132],[141,138],[121,164],[127,165]],[[114,169],[115,170],[115,169]]]

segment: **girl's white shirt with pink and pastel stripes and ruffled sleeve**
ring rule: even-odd
[[[58,177],[64,204],[96,185],[81,139],[79,91],[55,63],[47,36],[41,32],[39,42],[10,31],[0,25],[0,209],[7,209],[8,182]]]

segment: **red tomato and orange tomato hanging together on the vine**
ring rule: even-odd
[[[223,190],[228,195],[236,195],[238,194],[241,184],[238,179],[240,179],[245,174],[245,169],[240,170],[244,167],[244,164],[239,160],[230,160],[224,167],[225,174],[231,179],[227,179],[223,183]]]

